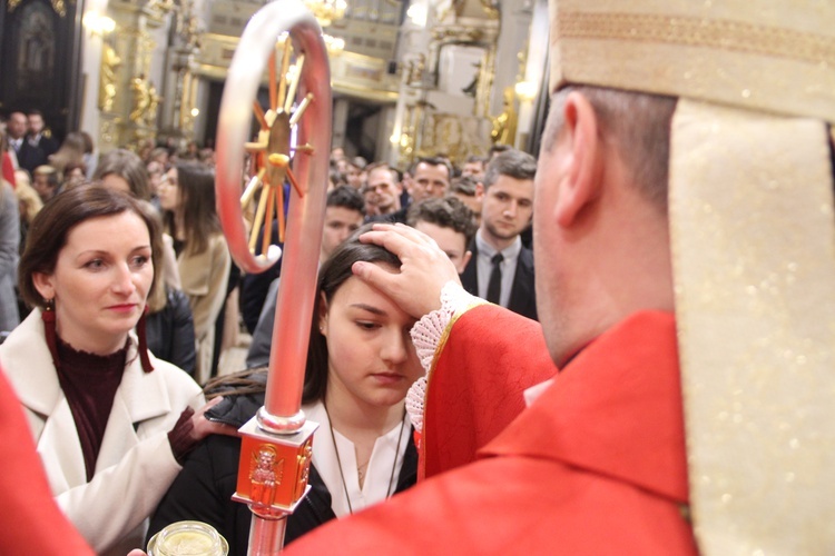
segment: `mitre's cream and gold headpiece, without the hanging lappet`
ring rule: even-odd
[[[835,121],[826,0],[551,1],[551,88],[597,85]]]

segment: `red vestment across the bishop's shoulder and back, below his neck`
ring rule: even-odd
[[[444,350],[473,341],[461,324]],[[696,555],[687,504],[675,320],[644,312],[590,344],[477,461],[286,554]]]

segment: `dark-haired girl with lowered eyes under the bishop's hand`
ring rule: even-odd
[[[367,229],[367,228],[366,228]],[[353,514],[412,486],[418,454],[404,398],[422,368],[409,315],[354,278],[356,261],[392,272],[400,260],[362,244],[361,229],[320,269],[302,409],[320,424],[313,443],[311,493],[287,518],[286,542],[335,517]],[[264,404],[264,369],[224,377],[207,386],[225,396],[209,419],[240,426]],[[216,527],[230,554],[246,554],[252,514],[230,502],[240,440],[212,436],[189,456],[151,518],[149,535],[181,519]]]

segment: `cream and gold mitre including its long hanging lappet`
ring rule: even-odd
[[[551,91],[679,98],[670,238],[694,528],[835,554],[835,2],[551,0]]]

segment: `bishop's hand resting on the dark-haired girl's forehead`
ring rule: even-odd
[[[441,308],[441,289],[449,281],[461,284],[450,258],[425,234],[402,224],[375,224],[360,237],[376,244],[400,259],[400,272],[390,272],[371,262],[354,262],[354,275],[389,296],[414,318]]]

